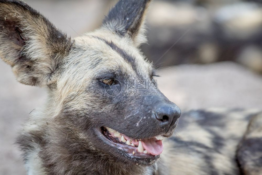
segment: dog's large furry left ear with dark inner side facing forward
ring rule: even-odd
[[[54,83],[70,47],[70,39],[29,5],[0,0],[0,58],[20,83]]]

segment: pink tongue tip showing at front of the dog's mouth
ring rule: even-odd
[[[150,140],[142,140],[142,145],[147,152],[153,155],[160,155],[163,152],[163,144],[161,140],[157,138],[151,138]]]

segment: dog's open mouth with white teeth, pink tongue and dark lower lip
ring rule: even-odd
[[[133,139],[108,127],[101,127],[100,132],[99,137],[104,142],[115,147],[117,152],[128,159],[155,160],[163,152],[163,140],[160,137]]]

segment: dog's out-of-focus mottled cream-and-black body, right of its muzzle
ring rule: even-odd
[[[206,109],[184,113],[177,127],[179,135],[169,139],[162,153],[162,164],[168,170],[166,174],[261,174],[262,125],[260,122],[251,127],[250,120],[261,121],[261,113],[241,109]],[[257,141],[253,142],[253,146],[245,144],[247,130],[252,130],[254,134],[255,128]],[[239,146],[242,150],[238,149]]]

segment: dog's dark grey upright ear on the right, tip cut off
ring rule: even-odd
[[[144,18],[151,0],[119,0],[103,21],[103,27],[131,37],[138,47],[146,42]]]

